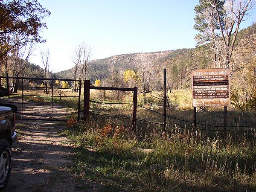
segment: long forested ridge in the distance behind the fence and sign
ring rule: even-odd
[[[236,41],[236,50],[239,50],[242,45],[240,44],[248,35],[255,34],[256,24],[249,26],[247,29],[242,29],[239,32]],[[248,55],[250,50],[248,50]],[[162,52],[148,52],[148,53],[130,53],[122,55],[114,55],[104,59],[93,60],[89,63],[87,71],[87,79],[92,82],[95,79],[106,80],[108,79],[113,70],[123,72],[125,70],[135,70],[136,64],[140,57],[144,55],[145,58],[152,61],[154,72],[157,74],[157,79],[161,79],[162,70],[168,70],[168,81],[173,89],[186,88],[190,86],[190,70],[193,68],[207,68],[214,67],[209,56],[211,53],[207,47],[195,47],[189,49],[176,49]],[[250,56],[249,56],[250,58]],[[234,68],[234,71],[239,67]],[[74,68],[70,70],[55,73],[60,78],[73,79]]]

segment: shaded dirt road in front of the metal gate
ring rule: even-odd
[[[57,122],[18,122],[19,139],[6,192],[98,191],[94,183],[70,173],[74,145],[60,135]]]

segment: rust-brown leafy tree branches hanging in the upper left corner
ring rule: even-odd
[[[0,0],[1,63],[16,46],[45,41],[39,32],[47,28],[42,20],[50,14],[37,0]]]

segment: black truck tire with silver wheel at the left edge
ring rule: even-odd
[[[7,140],[0,139],[0,191],[8,183],[12,169],[12,148]]]

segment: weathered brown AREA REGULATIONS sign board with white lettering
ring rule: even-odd
[[[230,69],[193,69],[192,106],[230,106]]]

